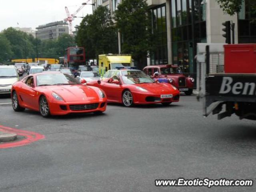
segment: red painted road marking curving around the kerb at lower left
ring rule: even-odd
[[[19,130],[19,129],[14,129],[14,128],[10,128],[10,127],[4,127],[2,125],[0,125],[0,131],[8,132],[8,133],[16,133],[17,135],[25,137],[23,140],[20,140],[20,141],[16,141],[16,142],[14,141],[14,142],[10,142],[10,143],[2,143],[2,144],[0,144],[0,148],[24,146],[24,145],[28,145],[32,142],[35,142],[35,141],[45,138],[44,135],[41,135],[36,132]]]

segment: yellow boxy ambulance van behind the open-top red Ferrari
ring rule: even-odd
[[[99,55],[99,72],[103,76],[106,71],[117,68],[132,67],[132,56],[126,54]]]

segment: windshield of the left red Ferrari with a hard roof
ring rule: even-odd
[[[80,84],[75,78],[63,73],[40,74],[36,76],[37,86]]]

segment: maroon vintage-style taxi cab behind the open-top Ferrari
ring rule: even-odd
[[[174,85],[186,95],[191,95],[193,92],[194,78],[184,76],[178,66],[169,64],[146,66],[143,72],[159,82],[168,82]]]

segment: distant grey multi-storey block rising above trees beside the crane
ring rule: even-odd
[[[36,36],[40,40],[56,39],[62,34],[68,34],[68,24],[63,21],[52,22],[38,26]]]

